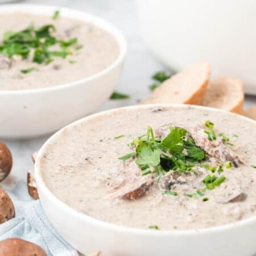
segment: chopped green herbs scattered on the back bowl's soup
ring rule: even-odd
[[[56,11],[53,19],[57,19],[59,13]],[[11,58],[19,55],[26,59],[32,55],[32,61],[37,64],[49,64],[55,57],[65,58],[72,55],[72,49],[77,47],[77,38],[62,40],[53,36],[55,26],[46,24],[35,28],[33,24],[20,31],[7,31],[3,35],[3,42],[0,44],[0,53]],[[58,46],[59,49],[52,51],[52,46]],[[22,73],[29,73],[35,67],[23,69]]]

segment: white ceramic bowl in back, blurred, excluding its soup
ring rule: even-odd
[[[91,22],[117,39],[120,52],[108,68],[68,84],[31,90],[0,91],[0,137],[25,138],[52,133],[95,112],[106,101],[122,71],[126,41],[117,28],[96,16],[73,9],[43,5],[2,5],[0,14],[14,11],[62,16]]]

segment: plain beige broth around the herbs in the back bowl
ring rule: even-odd
[[[0,24],[0,40],[6,31],[23,30],[30,24],[35,28],[53,24],[56,28],[54,36],[62,40],[77,38],[77,45],[82,46],[79,50],[72,49],[73,54],[65,59],[54,57],[48,65],[34,63],[32,54],[25,60],[20,56],[9,59],[0,55],[0,90],[43,88],[84,79],[107,68],[119,53],[117,41],[108,32],[81,20],[61,17],[61,13],[56,20],[28,13],[1,14]],[[31,67],[36,69],[27,74],[20,72]]]

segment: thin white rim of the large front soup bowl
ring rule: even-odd
[[[249,122],[252,122],[256,125],[256,121],[253,121],[250,118],[243,117],[242,115],[238,115],[235,113],[230,113],[226,112],[225,110],[220,110],[220,109],[214,109],[214,108],[209,108],[205,106],[195,106],[195,105],[184,105],[184,104],[147,104],[147,105],[133,105],[133,106],[126,106],[122,108],[116,108],[116,109],[110,109],[110,110],[105,110],[103,112],[99,112],[96,114],[89,115],[88,117],[81,118],[65,127],[57,131],[55,134],[53,134],[47,141],[43,144],[43,146],[40,148],[36,162],[35,162],[35,179],[36,179],[36,184],[38,185],[39,188],[39,195],[40,192],[44,193],[46,197],[48,197],[48,200],[52,200],[54,202],[54,205],[57,205],[57,207],[63,209],[63,212],[68,212],[69,214],[72,214],[74,216],[74,219],[81,220],[83,222],[90,222],[94,226],[98,226],[99,228],[105,228],[109,229],[115,232],[123,232],[123,233],[129,233],[129,234],[136,234],[140,236],[158,236],[158,237],[163,237],[163,236],[171,236],[171,237],[178,237],[178,236],[196,236],[199,234],[213,234],[213,233],[218,233],[218,232],[225,232],[225,231],[230,231],[230,229],[235,229],[235,228],[241,228],[242,226],[247,226],[251,224],[255,224],[256,222],[256,214],[254,216],[251,216],[249,218],[245,218],[244,220],[236,221],[236,222],[231,222],[229,224],[225,225],[220,225],[220,226],[212,226],[209,228],[200,228],[200,229],[175,229],[175,230],[147,230],[147,229],[139,229],[139,228],[130,228],[127,226],[122,226],[122,225],[117,225],[113,224],[110,222],[98,220],[96,218],[90,217],[84,213],[78,212],[77,210],[69,207],[69,205],[65,204],[63,201],[58,199],[46,186],[46,183],[44,183],[42,172],[39,167],[39,159],[43,157],[44,152],[46,151],[46,148],[48,144],[51,144],[54,142],[56,139],[58,139],[59,135],[66,129],[67,127],[73,127],[76,125],[79,125],[80,123],[84,122],[85,120],[94,118],[94,117],[99,117],[101,115],[106,115],[110,114],[113,112],[117,112],[119,110],[133,110],[133,109],[143,109],[143,108],[183,108],[187,109],[189,107],[195,108],[195,109],[206,109],[209,110],[210,112],[221,112],[221,113],[228,113],[230,115],[234,115],[234,117],[238,117],[241,119],[245,119]]]

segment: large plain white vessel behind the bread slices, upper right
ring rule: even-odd
[[[256,95],[256,1],[137,0],[143,38],[156,56],[180,70],[205,60],[213,76],[241,79]]]

